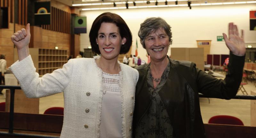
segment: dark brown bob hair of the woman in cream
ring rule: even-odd
[[[125,23],[124,19],[119,15],[111,12],[104,12],[100,14],[92,23],[92,28],[89,34],[92,51],[96,54],[100,54],[100,49],[96,43],[96,38],[98,37],[98,31],[100,30],[101,23],[103,22],[116,24],[121,38],[126,38],[126,42],[121,46],[119,54],[127,53],[132,45],[132,33],[127,24]]]

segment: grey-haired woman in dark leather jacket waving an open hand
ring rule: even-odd
[[[205,137],[199,96],[231,99],[239,88],[244,66],[243,31],[229,23],[228,73],[218,80],[196,68],[195,63],[167,56],[172,44],[171,27],[162,18],[149,18],[140,24],[139,37],[151,63],[140,65],[133,116],[134,138]],[[236,61],[236,62],[234,62]]]

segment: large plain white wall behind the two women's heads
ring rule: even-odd
[[[81,51],[90,46],[89,32],[93,20],[103,12],[120,15],[130,27],[133,42],[132,55],[135,54],[136,39],[138,52],[142,60],[147,61],[146,50],[142,48],[138,37],[140,23],[148,17],[161,17],[172,27],[171,47],[197,47],[196,40],[212,40],[210,54],[229,54],[225,42],[217,42],[217,36],[228,33],[228,22],[234,22],[238,29],[244,30],[246,43],[256,43],[256,31],[250,31],[249,11],[255,10],[256,4],[233,4],[216,6],[141,8],[122,10],[81,11],[87,16],[87,34],[81,34]],[[168,53],[170,55],[170,51]]]

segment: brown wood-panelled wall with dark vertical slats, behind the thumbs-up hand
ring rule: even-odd
[[[15,5],[17,4],[17,15],[14,14]],[[0,0],[1,7],[8,7],[8,29],[0,29],[0,54],[6,55],[7,66],[10,66],[14,63],[13,51],[14,45],[10,41],[10,37],[14,33],[14,19],[17,17],[15,24],[15,31],[25,28],[28,23],[28,0]],[[31,35],[31,43],[29,47],[38,47],[38,48],[54,48],[55,46],[60,46],[59,49],[68,50],[70,47],[70,7],[64,5],[55,0],[51,0],[51,25],[46,25],[44,27],[39,27],[42,30],[47,30],[47,36],[36,34],[40,32],[38,28],[35,29],[31,26],[31,31],[35,31],[35,35]],[[59,15],[59,16],[58,16]],[[42,29],[44,28],[44,29]],[[60,38],[56,38],[56,31],[62,32],[58,34]],[[65,34],[65,35],[64,35]],[[58,44],[57,44],[58,39]],[[48,42],[47,42],[48,41]]]

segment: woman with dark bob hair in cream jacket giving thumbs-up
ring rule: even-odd
[[[106,12],[94,20],[89,36],[100,56],[70,59],[61,69],[39,77],[29,55],[28,24],[11,37],[19,61],[10,69],[27,97],[63,92],[61,138],[130,138],[139,73],[117,58],[130,49],[131,31],[119,15]]]

